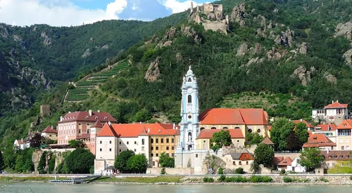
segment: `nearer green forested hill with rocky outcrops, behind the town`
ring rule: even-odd
[[[87,100],[61,105],[64,92],[46,95],[42,103],[51,104],[54,113],[31,129],[55,125],[68,111],[87,109],[108,111],[121,123],[156,121],[151,119],[156,113],[180,121],[180,85],[189,65],[199,79],[201,109],[264,107],[272,117],[301,119],[310,117],[312,107],[331,100],[352,104],[351,2],[214,4],[222,4],[230,16],[227,34],[206,31],[206,21],[181,22],[158,31],[111,60],[125,68],[89,90]],[[202,20],[222,17],[194,14]],[[4,134],[13,136],[27,131],[38,105],[0,119],[6,125],[0,126],[0,135],[6,129]]]

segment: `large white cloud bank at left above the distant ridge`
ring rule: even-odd
[[[12,25],[70,26],[99,20],[117,20],[127,0],[115,0],[103,9],[82,9],[69,0],[0,0],[0,22]]]

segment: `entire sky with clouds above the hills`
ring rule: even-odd
[[[0,22],[8,25],[77,26],[101,20],[163,18],[212,0],[0,0]]]

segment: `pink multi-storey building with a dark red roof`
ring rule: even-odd
[[[108,112],[68,112],[58,121],[58,145],[68,145],[69,140],[82,140],[91,151],[94,149],[94,153],[95,145],[94,148],[91,147],[91,128],[96,131],[96,126],[102,127],[108,121],[118,123]]]

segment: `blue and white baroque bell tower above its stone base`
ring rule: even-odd
[[[181,93],[181,123],[178,151],[196,149],[196,138],[199,134],[199,99],[198,85],[191,66],[183,77]]]

